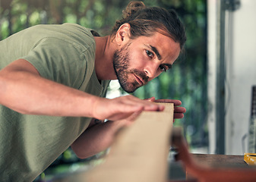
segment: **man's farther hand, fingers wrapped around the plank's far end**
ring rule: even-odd
[[[183,107],[177,107],[178,105],[182,105],[182,102],[179,100],[174,99],[155,99],[154,97],[151,97],[150,99],[147,99],[151,102],[165,102],[165,103],[173,103],[174,104],[174,115],[173,119],[181,119],[184,118],[184,113],[186,112],[186,109]]]

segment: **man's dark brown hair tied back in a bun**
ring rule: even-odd
[[[112,36],[125,23],[131,26],[131,39],[159,32],[179,42],[181,49],[186,41],[185,28],[174,10],[166,11],[164,8],[147,7],[143,2],[130,2],[123,10],[122,19],[115,22]]]

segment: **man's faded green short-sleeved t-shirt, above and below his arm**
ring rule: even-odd
[[[42,77],[105,96],[109,80],[97,80],[92,32],[77,24],[37,25],[22,30],[0,42],[0,69],[24,58]],[[90,120],[21,115],[0,105],[0,180],[32,181],[71,146]]]

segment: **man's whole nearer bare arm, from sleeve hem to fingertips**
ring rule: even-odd
[[[127,118],[134,111],[163,107],[134,96],[103,99],[40,77],[28,61],[18,59],[0,71],[0,104],[28,115]]]

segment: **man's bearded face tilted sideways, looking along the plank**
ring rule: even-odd
[[[113,66],[125,92],[132,93],[172,67],[180,52],[179,43],[155,33],[130,39],[115,51]]]

